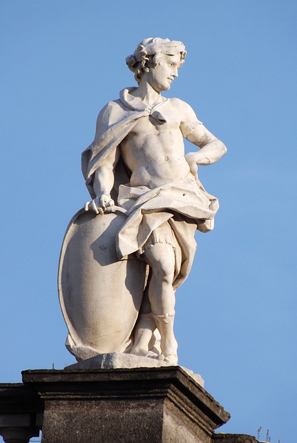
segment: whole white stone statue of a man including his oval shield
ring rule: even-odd
[[[126,58],[138,86],[100,111],[82,154],[91,200],[70,221],[59,265],[66,347],[78,361],[124,352],[178,363],[175,291],[195,230],[212,230],[218,210],[198,165],[227,151],[186,102],[161,95],[185,56],[182,42],[144,39]],[[183,138],[200,150],[184,155]]]

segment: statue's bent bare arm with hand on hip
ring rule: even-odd
[[[180,109],[182,118],[181,130],[184,137],[200,147],[198,152],[189,152],[185,156],[192,174],[196,175],[197,165],[211,165],[215,163],[226,154],[227,147],[198,120],[191,106],[182,102]]]

